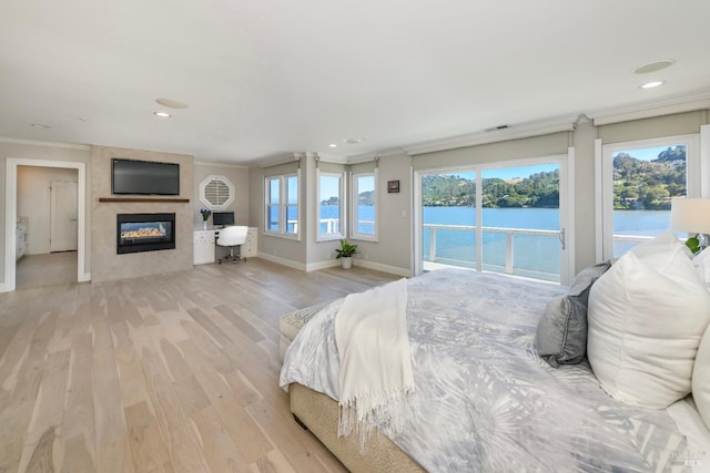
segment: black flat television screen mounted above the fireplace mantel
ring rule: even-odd
[[[180,164],[114,158],[111,193],[180,195]]]

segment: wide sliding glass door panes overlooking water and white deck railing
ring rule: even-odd
[[[458,266],[566,279],[561,167],[550,160],[417,173],[417,273]]]

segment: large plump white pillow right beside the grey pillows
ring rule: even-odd
[[[587,357],[620,401],[666,408],[691,390],[710,292],[672,233],[623,255],[591,287]]]

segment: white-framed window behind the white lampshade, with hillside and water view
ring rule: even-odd
[[[694,140],[676,136],[604,146],[601,259],[619,258],[669,229],[673,197],[700,196],[700,182],[691,178],[700,174]]]

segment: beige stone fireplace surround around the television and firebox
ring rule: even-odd
[[[180,196],[135,196],[136,202],[101,202],[111,195],[111,158],[180,164]],[[193,265],[194,158],[191,155],[91,146],[91,280],[101,282],[191,269]],[[121,196],[123,198],[131,196]],[[140,202],[139,202],[140,200]],[[119,214],[175,214],[175,248],[116,254]]]

